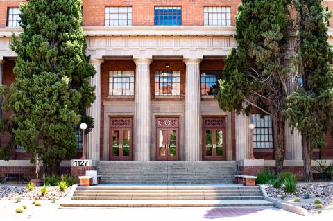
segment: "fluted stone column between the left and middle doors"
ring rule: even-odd
[[[149,64],[152,57],[135,57],[134,160],[149,161],[151,144],[151,87]]]

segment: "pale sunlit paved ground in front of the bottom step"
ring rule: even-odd
[[[332,220],[332,212],[303,217],[275,207],[239,208],[71,208],[58,209],[51,201],[35,206],[31,200],[0,200],[1,221],[9,220]],[[23,204],[24,213],[15,213]]]

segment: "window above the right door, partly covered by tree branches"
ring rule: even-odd
[[[201,72],[201,95],[216,95],[219,92],[219,82],[222,78],[222,71]]]

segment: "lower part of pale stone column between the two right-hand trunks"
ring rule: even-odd
[[[288,125],[288,121],[285,126],[285,138],[286,138],[286,158],[291,160],[302,160],[302,135],[298,130],[293,130],[291,134],[291,128]]]

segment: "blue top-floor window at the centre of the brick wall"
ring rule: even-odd
[[[155,26],[181,26],[181,7],[155,7]]]

